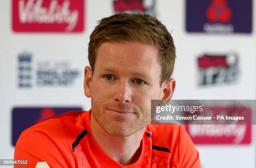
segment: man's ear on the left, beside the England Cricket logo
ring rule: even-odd
[[[92,70],[90,67],[86,66],[84,68],[84,95],[90,98],[91,95],[91,83],[92,83]]]

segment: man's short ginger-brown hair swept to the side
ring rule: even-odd
[[[161,65],[160,86],[171,78],[174,70],[176,50],[172,35],[165,25],[148,14],[119,13],[98,21],[90,35],[88,60],[92,73],[97,58],[97,50],[105,41],[139,41],[153,45],[159,51]]]

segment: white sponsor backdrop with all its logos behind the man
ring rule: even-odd
[[[115,13],[148,13],[172,32],[177,48],[174,99],[255,100],[255,4],[1,0],[0,159],[13,159],[15,142],[27,127],[66,111],[90,109],[83,90],[89,36],[97,20]],[[255,117],[255,110],[248,109]],[[194,124],[186,129],[203,168],[256,168],[255,125]]]

